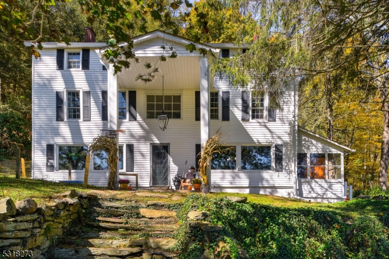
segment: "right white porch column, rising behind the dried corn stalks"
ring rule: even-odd
[[[210,87],[208,85],[208,57],[200,56],[200,141],[201,147],[211,137],[210,126]],[[201,150],[202,152],[202,150]],[[210,170],[210,169],[209,169]],[[208,181],[211,184],[211,174],[208,171]]]

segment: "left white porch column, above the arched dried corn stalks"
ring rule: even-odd
[[[116,130],[118,129],[118,78],[117,75],[113,75],[115,69],[112,64],[109,64],[109,73],[108,73],[108,129]]]

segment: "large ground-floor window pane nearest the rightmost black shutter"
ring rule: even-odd
[[[242,146],[242,170],[271,170],[271,146]]]

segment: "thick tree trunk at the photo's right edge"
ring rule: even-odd
[[[384,103],[384,130],[381,142],[381,162],[379,183],[382,190],[386,190],[386,179],[388,176],[388,161],[389,161],[389,104]]]

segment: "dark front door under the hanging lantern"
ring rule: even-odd
[[[151,186],[169,185],[169,144],[151,145]]]

